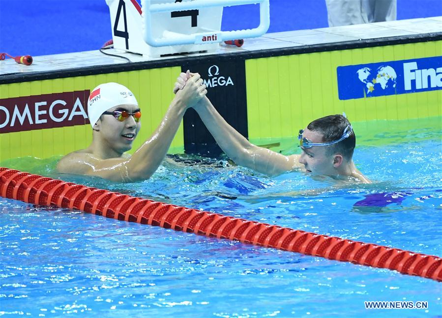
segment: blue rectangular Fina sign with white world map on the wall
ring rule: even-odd
[[[340,100],[442,89],[442,56],[338,66]]]

